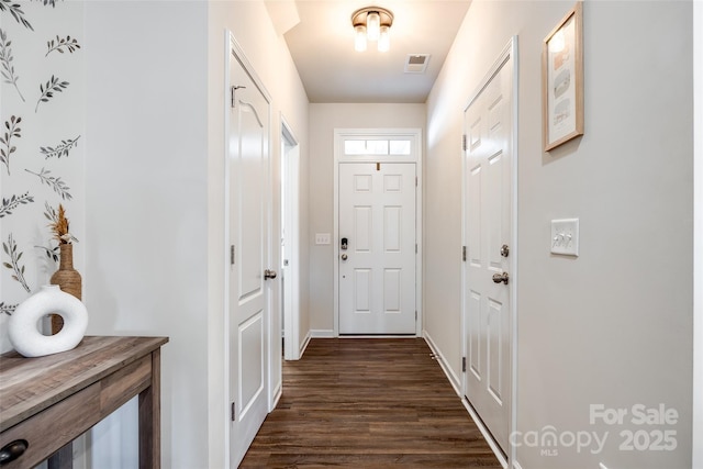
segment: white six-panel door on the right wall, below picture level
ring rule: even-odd
[[[512,55],[465,111],[465,393],[503,451],[511,407]]]

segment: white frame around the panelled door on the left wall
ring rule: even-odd
[[[268,129],[269,129],[269,135],[268,135],[268,150],[269,150],[269,155],[268,155],[268,164],[267,164],[267,168],[265,169],[265,176],[266,176],[266,180],[268,181],[269,188],[274,188],[274,182],[272,182],[272,158],[274,158],[274,152],[271,150],[272,146],[272,138],[271,138],[271,132],[272,132],[272,116],[271,116],[271,96],[268,93],[268,91],[266,90],[266,87],[264,86],[264,82],[261,81],[261,79],[259,78],[259,76],[257,75],[256,70],[254,69],[254,67],[252,66],[250,62],[247,59],[246,55],[244,54],[244,49],[242,48],[242,46],[239,45],[239,43],[237,42],[237,40],[234,36],[234,33],[230,30],[225,31],[225,70],[224,70],[224,107],[223,107],[223,113],[224,113],[224,154],[223,154],[223,158],[224,158],[224,171],[223,171],[223,194],[224,194],[224,200],[223,200],[223,215],[224,215],[224,239],[223,239],[223,250],[222,250],[222,255],[223,257],[226,259],[224,264],[224,268],[223,268],[223,277],[224,277],[224,290],[223,290],[223,314],[224,314],[224,327],[223,327],[223,335],[224,335],[224,393],[223,393],[223,399],[224,399],[224,409],[230,410],[230,403],[231,403],[231,387],[230,387],[230,377],[231,377],[231,369],[232,369],[232,364],[230,361],[230,347],[232,346],[231,340],[230,340],[230,220],[231,220],[231,206],[230,206],[230,197],[231,197],[231,185],[230,185],[230,157],[228,157],[228,137],[230,137],[230,80],[232,79],[231,75],[230,75],[230,68],[233,64],[233,60],[237,60],[242,67],[245,69],[245,71],[249,75],[249,77],[252,78],[252,81],[254,81],[254,83],[256,85],[256,87],[259,89],[259,91],[261,92],[261,94],[264,96],[264,98],[266,99],[266,102],[269,107],[269,112],[268,112]],[[272,206],[272,198],[270,196],[271,190],[265,191],[266,193],[266,203],[267,203],[267,210],[266,210],[266,217],[268,219],[268,233],[267,233],[267,239],[265,239],[265,246],[266,249],[268,250],[268,259],[267,263],[268,265],[276,265],[276,263],[278,261],[278,255],[274,252],[274,206]],[[264,334],[266,335],[264,337],[264,386],[265,386],[265,394],[266,394],[266,399],[267,399],[267,405],[268,405],[268,412],[270,413],[274,404],[276,402],[276,395],[271,395],[271,393],[274,392],[274,389],[276,388],[274,386],[272,381],[272,377],[271,377],[271,371],[274,369],[272,365],[272,360],[276,359],[276,357],[278,357],[278,359],[280,360],[280,340],[271,340],[271,324],[274,323],[274,321],[271,321],[271,310],[274,308],[274,305],[277,303],[277,301],[274,301],[277,299],[276,295],[279,294],[279,290],[275,287],[274,282],[265,282],[264,283],[265,288],[266,288],[266,302],[267,302],[267,308],[266,308],[266,312],[264,313],[264,326],[263,326],[263,331]],[[279,333],[277,333],[277,336]],[[277,347],[278,346],[278,347]],[[279,350],[278,354],[276,354],[276,350]],[[280,366],[278,367],[279,369],[281,368]],[[281,392],[280,387],[278,388],[278,393]],[[224,442],[225,442],[225,448],[224,448],[224,460],[227,464],[227,467],[231,466],[231,432],[230,432],[230,423],[231,423],[231,418],[230,418],[230,413],[225,412],[224,415],[222,416],[222,423],[223,423],[223,429],[224,429]]]

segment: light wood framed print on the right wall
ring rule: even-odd
[[[583,4],[567,13],[545,37],[542,52],[545,152],[583,135]]]

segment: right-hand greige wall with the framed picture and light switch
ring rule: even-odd
[[[691,467],[691,2],[585,2],[585,135],[542,150],[543,38],[573,5],[475,1],[427,103],[426,328],[460,376],[462,108],[518,35],[517,429],[610,432],[601,451],[523,444],[523,468]],[[429,209],[432,208],[432,210]],[[436,208],[436,210],[435,210]],[[549,221],[581,220],[581,255],[549,254]],[[673,451],[621,451],[626,420],[591,404],[676,409]],[[632,417],[632,413],[629,417]],[[524,442],[523,442],[524,443]],[[591,449],[591,448],[589,448]]]

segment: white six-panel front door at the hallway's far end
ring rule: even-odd
[[[339,334],[415,334],[415,164],[339,164]]]

